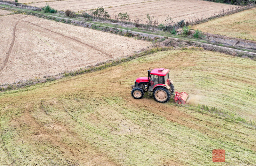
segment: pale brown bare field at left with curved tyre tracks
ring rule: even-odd
[[[0,83],[124,57],[150,43],[27,15],[1,16]]]

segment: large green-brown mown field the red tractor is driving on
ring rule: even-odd
[[[255,61],[204,50],[158,52],[1,93],[1,165],[220,165],[213,149],[226,150],[221,165],[255,165],[255,127],[191,105],[133,99],[130,85],[148,67],[170,69],[175,90],[198,95],[195,104],[255,118]]]

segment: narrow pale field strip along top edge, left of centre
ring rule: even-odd
[[[37,0],[25,0],[25,1],[37,1]],[[47,2],[51,7],[58,10],[71,10],[71,11],[84,11],[90,9],[96,9],[98,7],[103,6],[106,7],[115,7],[115,6],[123,6],[127,4],[139,4],[143,2],[150,2],[156,0],[120,0],[120,1],[111,1],[111,0],[65,0],[65,1],[51,1]],[[23,2],[23,0],[21,1]],[[34,6],[42,7],[45,5],[45,2],[42,3],[33,3]]]

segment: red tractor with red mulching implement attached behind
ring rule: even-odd
[[[179,104],[186,104],[189,100],[188,94],[185,92],[175,92],[172,79],[169,78],[168,69],[148,70],[148,77],[139,77],[132,85],[132,97],[141,99],[144,92],[148,91],[149,95],[154,96],[157,102],[168,102],[171,95],[174,95],[174,101]]]

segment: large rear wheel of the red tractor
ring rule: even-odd
[[[168,102],[171,98],[171,94],[169,92],[169,90],[165,87],[156,87],[156,89],[154,89],[153,91],[154,94],[154,99],[157,102]]]

